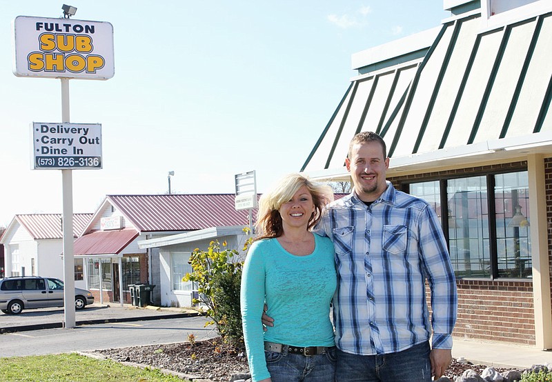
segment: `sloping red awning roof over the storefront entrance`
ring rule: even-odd
[[[134,229],[94,231],[75,240],[73,253],[118,254],[137,237],[138,232]]]

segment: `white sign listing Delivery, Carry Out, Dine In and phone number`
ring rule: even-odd
[[[101,124],[32,123],[32,169],[101,168]]]

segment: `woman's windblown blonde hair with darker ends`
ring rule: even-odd
[[[259,199],[259,212],[257,214],[257,239],[280,237],[284,233],[282,216],[279,209],[282,204],[290,201],[299,188],[306,186],[311,192],[315,211],[308,221],[308,230],[311,230],[322,217],[324,206],[333,201],[333,190],[329,185],[313,183],[301,174],[288,174],[282,178],[275,187],[262,195]]]

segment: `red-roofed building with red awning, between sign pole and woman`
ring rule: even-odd
[[[75,241],[75,259],[96,301],[130,303],[128,285],[149,284],[155,304],[192,306],[193,285],[181,281],[190,254],[215,239],[243,245],[247,225],[234,194],[108,195]]]

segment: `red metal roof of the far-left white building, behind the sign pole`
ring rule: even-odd
[[[62,214],[19,214],[15,219],[29,232],[33,239],[63,239]],[[79,234],[90,221],[92,214],[73,214],[73,237]]]

